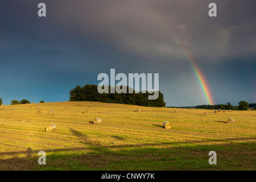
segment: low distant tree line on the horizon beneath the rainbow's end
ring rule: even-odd
[[[253,106],[256,104],[250,104],[250,106]],[[228,102],[227,104],[218,104],[218,105],[199,105],[196,106],[196,108],[200,108],[200,109],[222,109],[222,110],[247,110],[249,109],[249,104],[246,101],[240,101],[238,103],[238,106],[233,106],[230,104],[230,102]],[[254,108],[256,109],[256,108]]]

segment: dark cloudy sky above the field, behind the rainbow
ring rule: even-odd
[[[255,8],[255,0],[2,0],[0,97],[68,101],[76,85],[98,85],[115,68],[159,73],[167,106],[207,104],[181,43],[215,104],[256,102]]]

